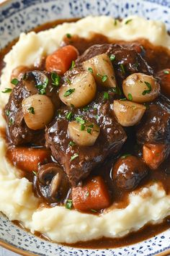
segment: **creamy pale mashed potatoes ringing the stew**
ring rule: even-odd
[[[131,21],[126,24],[126,20]],[[64,23],[37,34],[22,33],[18,43],[5,56],[6,67],[1,76],[1,90],[11,87],[12,69],[40,61],[42,56],[58,48],[66,33],[78,34],[84,38],[89,38],[91,32],[102,33],[117,40],[146,38],[154,45],[170,48],[170,37],[162,22],[147,21],[139,17],[128,17],[126,20],[117,21],[115,25],[111,17],[86,17],[79,22]],[[0,94],[1,109],[8,97],[7,94]],[[0,126],[5,125],[1,116]],[[58,206],[38,209],[39,200],[32,192],[32,184],[25,178],[19,179],[17,169],[6,161],[5,154],[6,144],[1,138],[1,212],[10,220],[22,221],[27,229],[32,232],[40,231],[55,242],[74,243],[102,236],[119,237],[140,229],[148,222],[161,221],[170,214],[170,196],[166,195],[161,184],[156,183],[132,192],[126,208],[110,208],[100,216]]]

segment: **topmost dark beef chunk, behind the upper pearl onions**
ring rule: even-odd
[[[141,54],[137,52],[137,46],[135,44],[131,46],[120,46],[118,44],[105,43],[91,46],[84,54],[79,56],[76,60],[76,66],[80,66],[83,61],[104,53],[108,56],[111,56],[111,54],[115,55],[115,60],[112,61],[112,64],[119,85],[121,85],[122,80],[133,73],[153,74],[153,69],[148,66]]]

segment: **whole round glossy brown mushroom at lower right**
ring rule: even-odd
[[[148,174],[148,167],[133,155],[122,156],[112,168],[112,179],[120,189],[133,190]]]

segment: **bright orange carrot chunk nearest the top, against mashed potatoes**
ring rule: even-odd
[[[71,67],[71,62],[77,59],[78,54],[77,49],[70,45],[59,48],[47,56],[45,68],[48,72],[56,71],[58,74],[64,74]]]

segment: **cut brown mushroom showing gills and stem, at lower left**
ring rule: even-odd
[[[66,173],[57,163],[40,166],[37,182],[42,196],[50,202],[63,201],[70,188]]]

